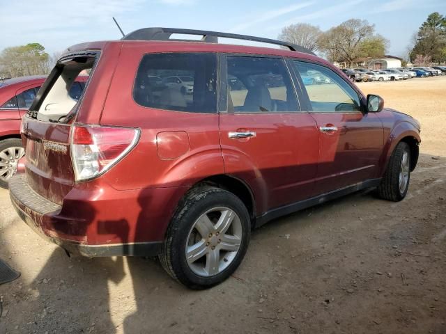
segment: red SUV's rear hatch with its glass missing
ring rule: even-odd
[[[22,120],[27,182],[40,196],[59,205],[75,184],[70,131],[84,100],[88,104],[88,100],[98,95],[93,73],[98,72],[100,54],[99,50],[81,50],[63,56]],[[69,92],[79,75],[89,75],[89,79],[76,100]],[[88,91],[89,97],[86,96]],[[102,104],[103,101],[102,98]],[[91,120],[91,116],[84,114],[84,119],[89,117]],[[95,122],[98,120],[99,116]]]

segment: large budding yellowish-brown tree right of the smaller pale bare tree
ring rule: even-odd
[[[319,50],[330,61],[349,65],[357,58],[383,56],[387,45],[383,36],[375,34],[375,26],[362,19],[348,19],[322,33],[318,40]]]

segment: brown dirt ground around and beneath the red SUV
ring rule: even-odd
[[[235,275],[185,289],[153,260],[68,258],[0,191],[0,333],[446,333],[446,77],[360,84],[420,120],[399,203],[355,193],[252,234]]]

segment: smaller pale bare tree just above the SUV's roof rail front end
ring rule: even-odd
[[[318,38],[321,33],[322,31],[318,26],[298,23],[284,27],[278,38],[285,42],[306,47],[310,51],[316,51],[318,49]]]

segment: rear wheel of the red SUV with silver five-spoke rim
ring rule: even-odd
[[[243,260],[250,231],[247,209],[233,193],[211,186],[192,189],[171,221],[160,261],[187,287],[213,287]]]

